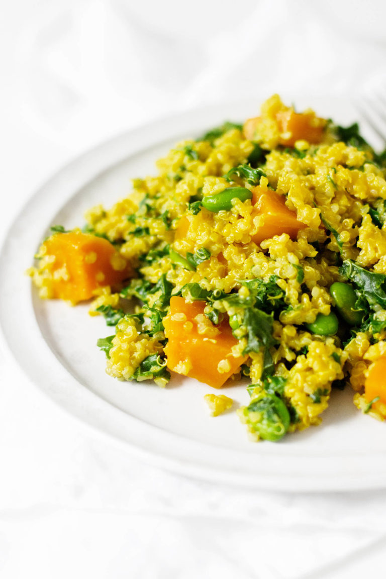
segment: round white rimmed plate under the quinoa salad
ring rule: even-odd
[[[288,98],[287,98],[288,100]],[[341,123],[355,120],[350,102],[293,99]],[[97,338],[112,333],[101,317],[58,301],[40,301],[24,271],[50,225],[83,225],[93,204],[110,206],[130,192],[130,178],[155,174],[155,160],[178,140],[224,120],[256,115],[262,99],[207,107],[120,135],[64,168],[14,222],[0,256],[0,322],[20,367],[39,388],[84,422],[161,467],[214,482],[277,490],[352,490],[386,486],[384,424],[352,405],[350,390],[334,392],[323,423],[279,444],[248,441],[234,412],[210,417],[211,388],[173,376],[170,386],[119,382],[104,371]],[[42,368],[44,368],[42,370]],[[245,387],[225,393],[239,405]]]

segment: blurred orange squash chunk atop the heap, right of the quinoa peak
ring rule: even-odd
[[[300,140],[313,144],[321,142],[326,122],[316,117],[313,112],[297,113],[289,108],[278,112],[276,118],[281,145],[295,146],[296,141]]]

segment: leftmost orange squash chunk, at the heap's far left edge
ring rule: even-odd
[[[78,230],[52,235],[43,243],[43,252],[52,296],[74,304],[92,298],[99,287],[133,275],[108,240]]]

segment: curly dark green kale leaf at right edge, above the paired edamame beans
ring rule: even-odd
[[[356,285],[358,296],[363,296],[373,309],[378,305],[383,308],[386,307],[386,276],[381,273],[369,272],[351,259],[345,259],[339,272]],[[355,307],[357,304],[358,302]]]

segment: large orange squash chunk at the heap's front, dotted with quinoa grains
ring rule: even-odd
[[[214,326],[204,316],[204,302],[187,303],[172,296],[170,313],[163,324],[168,343],[165,347],[170,370],[220,388],[238,371],[247,356],[233,357],[238,343],[227,320]]]

